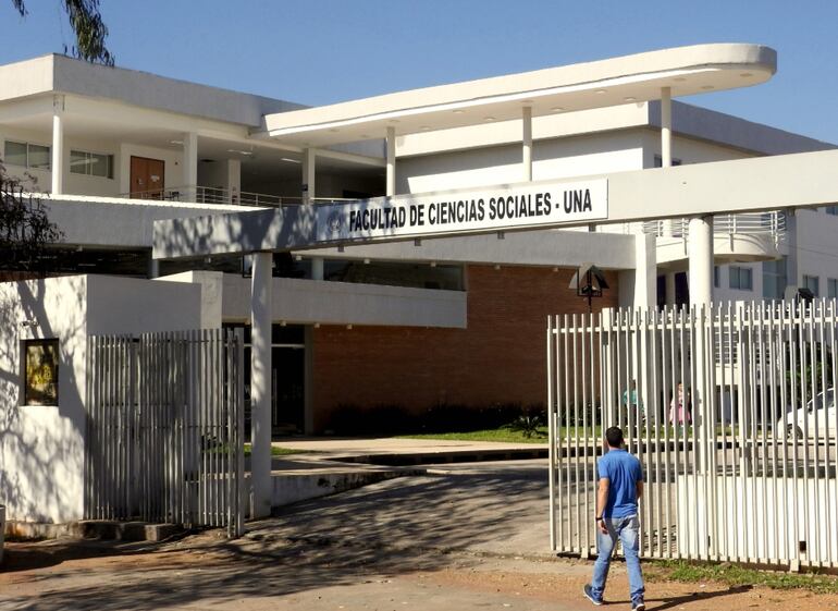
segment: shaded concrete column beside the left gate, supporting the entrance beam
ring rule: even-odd
[[[252,255],[250,293],[250,481],[252,516],[271,513],[271,286],[273,256]]]

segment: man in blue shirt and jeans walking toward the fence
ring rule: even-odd
[[[597,463],[600,487],[596,491],[596,545],[600,557],[593,565],[593,579],[584,586],[584,596],[602,604],[605,579],[617,537],[623,542],[629,576],[631,609],[644,611],[643,573],[640,571],[640,520],[638,501],[643,494],[643,469],[640,461],[623,449],[623,430],[611,427],[605,431],[608,451]]]

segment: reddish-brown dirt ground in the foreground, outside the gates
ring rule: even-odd
[[[465,552],[347,554],[323,541],[272,541],[268,552],[215,534],[162,546],[8,543],[0,609],[587,609],[590,571],[581,561]],[[629,607],[619,565],[605,599],[605,608]],[[838,596],[713,583],[651,582],[646,602],[650,610],[838,609]]]

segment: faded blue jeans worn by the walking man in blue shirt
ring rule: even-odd
[[[617,545],[617,537],[623,541],[623,553],[626,555],[626,569],[629,574],[629,590],[631,602],[643,600],[643,573],[640,571],[640,559],[638,550],[640,549],[640,520],[637,515],[626,517],[606,517],[605,527],[608,534],[604,535],[596,526],[596,547],[600,549],[600,557],[593,565],[593,581],[591,589],[597,600],[602,600],[605,591],[605,579],[608,577],[608,567],[611,566],[611,555],[614,546]]]

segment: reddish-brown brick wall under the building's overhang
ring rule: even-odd
[[[546,403],[545,328],[551,314],[584,313],[568,289],[572,269],[469,266],[467,329],[323,326],[313,329],[317,430],[341,404]],[[616,273],[594,310],[618,302]]]

